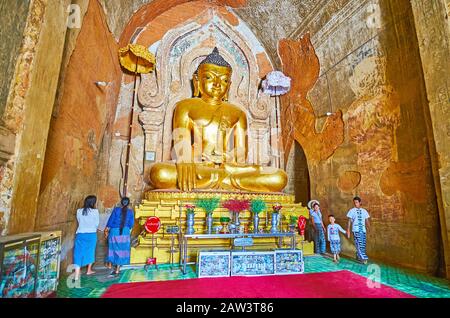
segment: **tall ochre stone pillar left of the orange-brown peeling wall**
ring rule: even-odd
[[[67,31],[70,0],[35,0],[24,31],[22,55],[14,76],[14,94],[5,112],[18,120],[8,233],[34,230],[50,118]],[[5,233],[4,233],[5,234]]]

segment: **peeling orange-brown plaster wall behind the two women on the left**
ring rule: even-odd
[[[60,85],[58,111],[51,122],[36,220],[36,230],[63,231],[64,264],[71,262],[76,210],[82,207],[84,198],[97,195],[102,216],[105,204],[112,205],[105,199],[109,194],[102,186],[107,184],[105,166],[122,74],[117,44],[97,1],[89,1],[77,33],[76,45],[69,42],[66,46],[66,51],[73,52],[65,55],[70,62]],[[96,81],[109,85],[98,87]],[[118,199],[115,193],[114,200]]]

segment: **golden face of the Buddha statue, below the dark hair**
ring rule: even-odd
[[[197,78],[202,98],[221,102],[230,88],[231,69],[214,64],[202,64]]]

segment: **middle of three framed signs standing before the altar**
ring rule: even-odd
[[[262,276],[275,273],[274,252],[232,252],[231,276]]]

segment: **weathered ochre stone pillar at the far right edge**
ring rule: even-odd
[[[425,109],[447,278],[450,278],[450,0],[411,1],[429,110]]]

